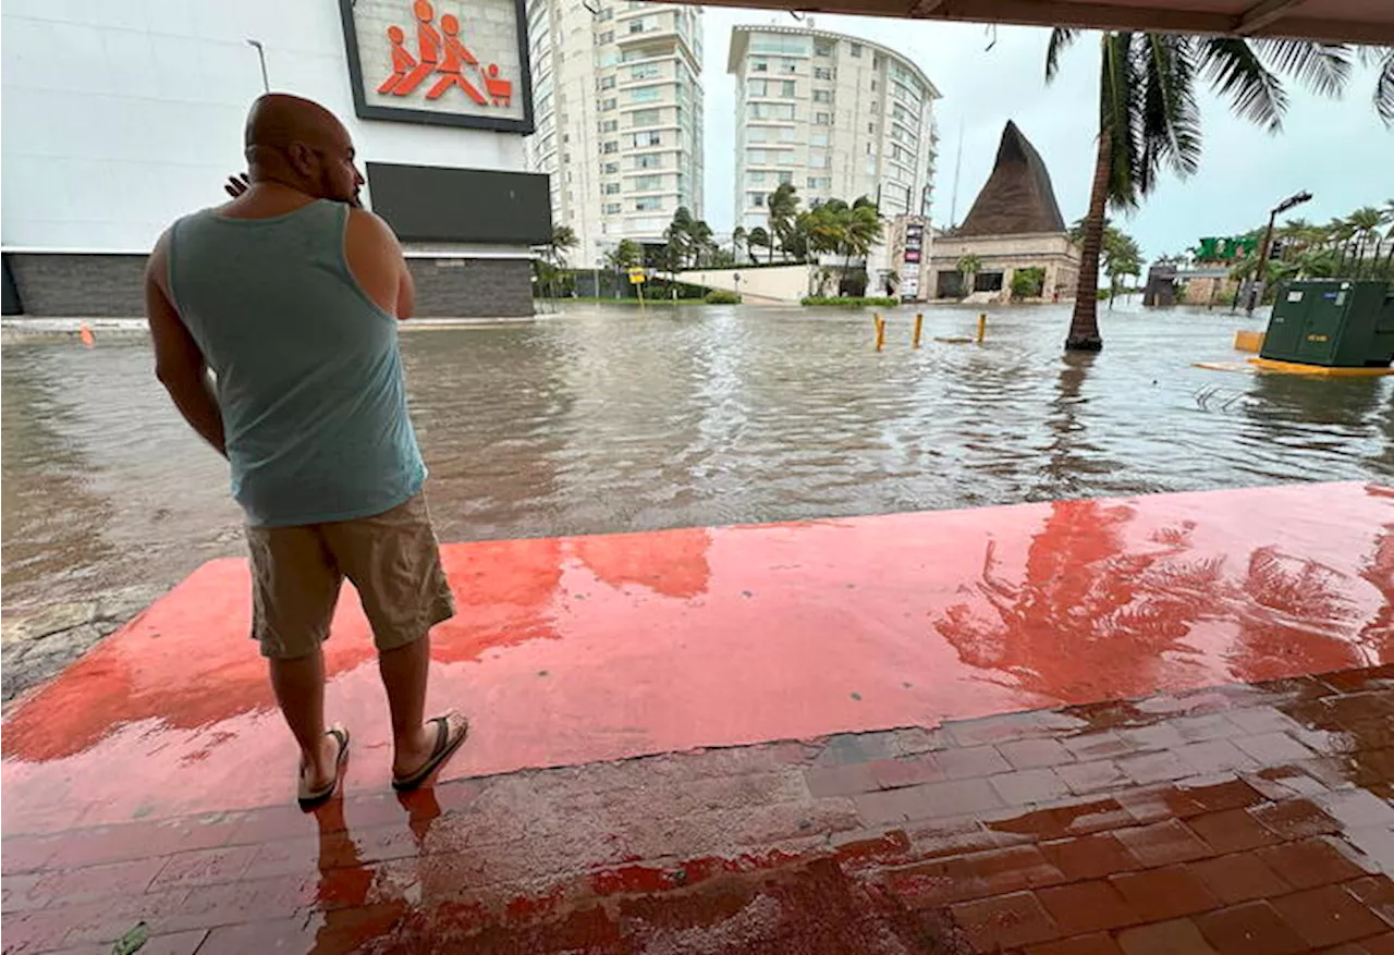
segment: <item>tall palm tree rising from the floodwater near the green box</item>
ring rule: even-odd
[[[1079,31],[1051,32],[1046,81]],[[1177,36],[1104,32],[1100,38],[1098,155],[1085,216],[1079,289],[1066,350],[1097,351],[1098,259],[1108,206],[1135,209],[1164,169],[1178,176],[1200,163],[1202,77],[1231,100],[1235,113],[1278,132],[1288,98],[1277,72],[1296,77],[1323,95],[1337,95],[1351,72],[1341,45],[1238,36]]]

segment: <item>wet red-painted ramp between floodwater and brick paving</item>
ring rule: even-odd
[[[445,778],[933,725],[1394,661],[1394,496],[1356,484],[454,544]],[[347,593],[347,591],[346,591]],[[205,565],[0,724],[0,834],[286,803],[241,560]],[[344,598],[329,715],[386,790]]]

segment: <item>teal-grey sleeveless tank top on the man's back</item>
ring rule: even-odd
[[[348,270],[348,206],[174,223],[174,307],[216,376],[233,496],[255,527],[369,517],[427,468],[407,414],[397,319]]]

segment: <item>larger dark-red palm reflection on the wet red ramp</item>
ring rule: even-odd
[[[1135,516],[1129,505],[1052,503],[1022,584],[997,576],[988,544],[973,590],[995,619],[958,604],[935,629],[965,662],[1005,671],[1025,690],[1059,698],[1089,698],[1100,687],[1153,692],[1161,654],[1218,609],[1223,559],[1175,559],[1190,549],[1189,523],[1128,552],[1124,530]]]

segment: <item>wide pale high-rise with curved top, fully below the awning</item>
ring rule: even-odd
[[[796,26],[736,26],[736,224],[767,224],[765,201],[793,183],[800,208],[877,199],[930,213],[940,91],[878,43]]]

